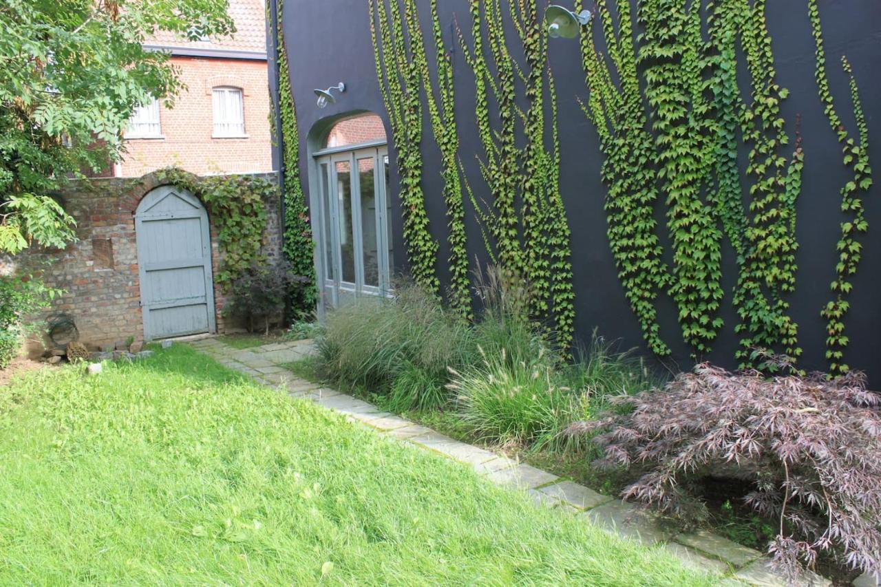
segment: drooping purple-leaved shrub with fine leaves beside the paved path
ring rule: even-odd
[[[779,359],[778,359],[779,360]],[[640,472],[622,496],[696,524],[700,480],[748,481],[746,504],[774,520],[774,563],[797,583],[821,552],[881,575],[881,396],[850,373],[729,373],[707,363],[663,390],[615,398],[626,414],[577,422],[600,466]]]

